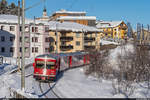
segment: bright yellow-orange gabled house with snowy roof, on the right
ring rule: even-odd
[[[128,27],[123,21],[98,21],[96,27],[106,38],[124,39],[127,35]]]

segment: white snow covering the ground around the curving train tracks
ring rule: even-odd
[[[133,50],[132,45],[126,46],[128,50]],[[111,50],[110,62],[116,66],[116,55],[122,52],[120,47]],[[27,60],[31,63],[33,60]],[[116,64],[116,65],[115,65]],[[35,81],[32,76],[25,79],[25,91],[21,91],[20,73],[10,74],[15,69],[15,65],[3,64],[0,66],[0,98],[11,98],[10,88],[29,98],[56,98],[52,89],[47,83],[42,83],[43,92],[39,89],[39,82]],[[124,94],[114,94],[112,80],[96,79],[84,74],[85,68],[76,68],[68,70],[59,75],[56,83],[51,83],[53,90],[60,97],[65,98],[126,98]],[[26,69],[25,74],[33,72],[33,67]],[[146,83],[133,84],[135,91],[129,98],[150,98],[149,90]]]

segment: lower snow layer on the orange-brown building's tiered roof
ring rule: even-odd
[[[95,16],[60,16],[57,20],[96,20]]]

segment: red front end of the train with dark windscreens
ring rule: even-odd
[[[54,81],[56,78],[56,59],[44,56],[35,58],[34,78],[41,81]]]

